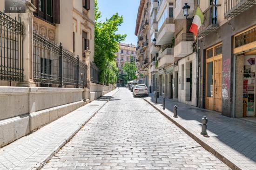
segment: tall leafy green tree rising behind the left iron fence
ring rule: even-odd
[[[119,43],[124,41],[126,34],[117,34],[118,26],[123,23],[123,17],[115,13],[106,21],[101,22],[101,12],[95,0],[95,56],[94,62],[100,69],[100,82],[115,84],[118,68],[115,63],[115,53],[119,51]]]

